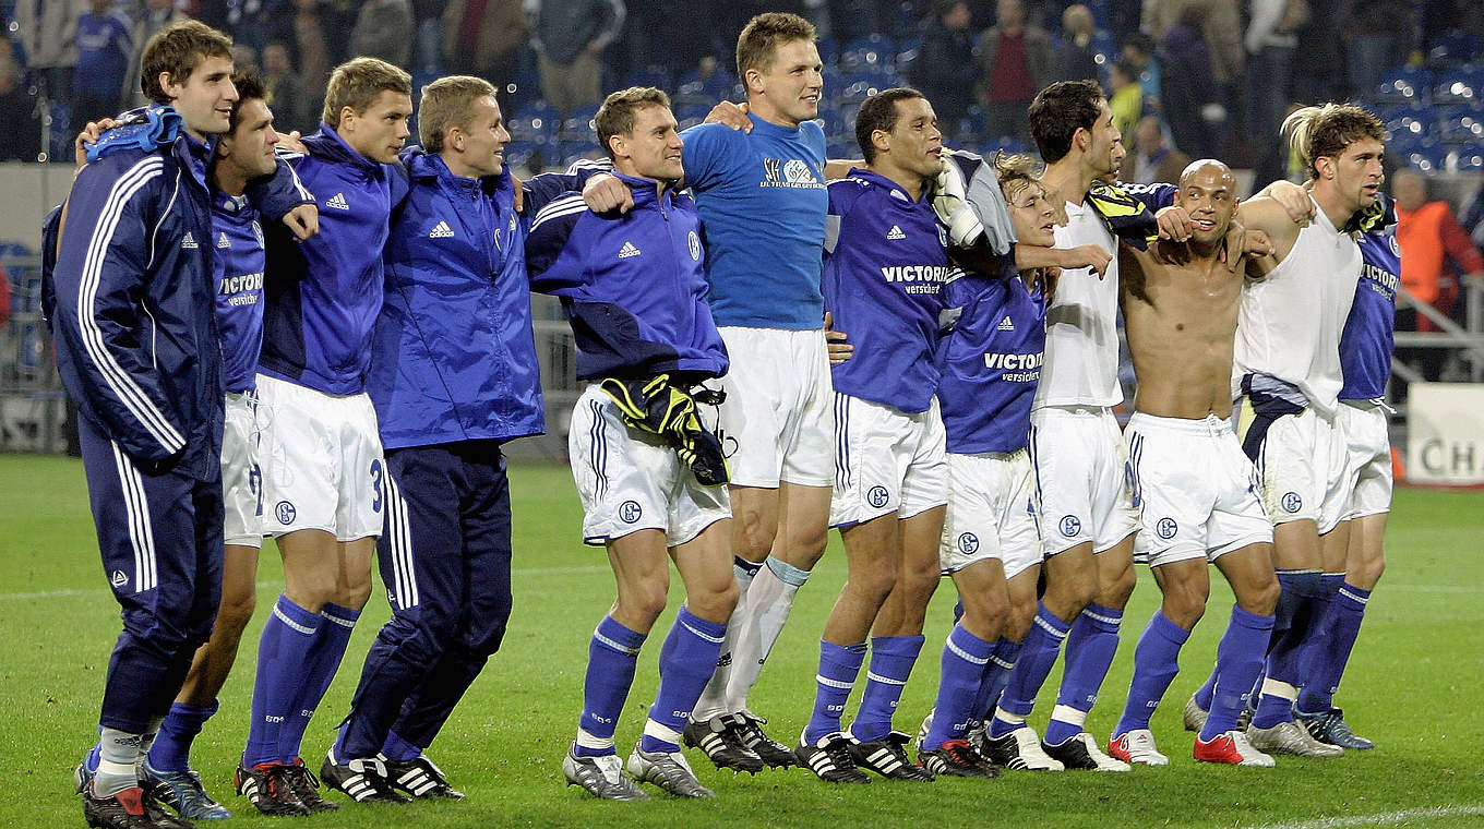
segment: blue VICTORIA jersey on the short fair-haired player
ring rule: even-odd
[[[938,405],[956,454],[1025,448],[1030,405],[1046,350],[1046,297],[1015,271],[963,273],[945,286],[959,319],[938,344]]]

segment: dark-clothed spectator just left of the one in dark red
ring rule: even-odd
[[[959,138],[959,122],[974,105],[978,64],[974,61],[972,16],[965,0],[935,0],[923,22],[923,42],[910,80],[932,101],[944,138]]]

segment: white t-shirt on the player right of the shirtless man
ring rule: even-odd
[[[1242,377],[1266,374],[1297,387],[1325,417],[1339,405],[1340,334],[1361,277],[1361,248],[1315,205],[1293,251],[1242,289],[1232,396]]]

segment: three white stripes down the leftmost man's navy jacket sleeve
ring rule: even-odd
[[[126,174],[119,176],[119,181],[114,182],[113,190],[108,193],[108,200],[104,203],[104,209],[98,217],[98,225],[93,228],[92,240],[88,245],[88,255],[83,260],[82,283],[77,291],[77,326],[82,332],[88,357],[98,368],[104,381],[129,411],[129,414],[144,426],[150,436],[154,437],[168,454],[174,455],[186,446],[186,439],[181,437],[180,432],[171,426],[171,421],[165,417],[165,414],[154,406],[154,402],[150,400],[148,394],[139,389],[139,384],[135,383],[126,371],[123,371],[119,360],[116,360],[113,353],[108,351],[102,329],[98,326],[98,319],[93,316],[93,303],[98,298],[98,283],[102,277],[104,265],[107,264],[108,246],[113,243],[113,234],[119,230],[119,218],[123,214],[123,208],[129,203],[129,199],[132,199],[135,193],[138,193],[151,178],[157,178],[163,169],[165,162],[157,156],[144,159],[129,168]]]

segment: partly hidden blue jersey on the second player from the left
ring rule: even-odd
[[[263,225],[246,199],[212,193],[211,227],[217,233],[217,328],[221,332],[221,378],[227,392],[257,387],[263,351]]]

